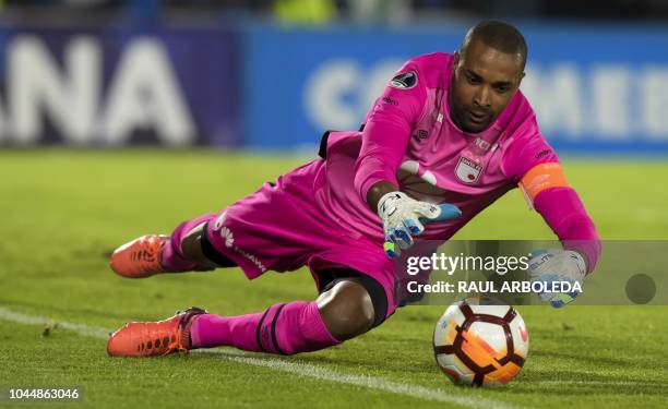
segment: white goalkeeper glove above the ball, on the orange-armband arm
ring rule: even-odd
[[[582,255],[572,250],[536,250],[529,254],[528,274],[532,281],[540,281],[546,286],[554,281],[566,281],[573,286],[575,282],[582,287],[582,280],[586,275],[586,264]],[[580,291],[571,292],[540,292],[538,297],[544,302],[549,302],[556,309],[573,302]]]

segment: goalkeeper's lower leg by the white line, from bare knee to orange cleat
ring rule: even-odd
[[[348,278],[315,301],[276,304],[255,314],[219,316],[190,309],[158,323],[130,323],[112,334],[107,352],[115,357],[147,357],[232,346],[293,354],[338,345],[366,333],[373,323],[369,292],[357,279]]]

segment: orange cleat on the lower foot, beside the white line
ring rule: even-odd
[[[191,349],[191,321],[200,314],[206,314],[206,311],[191,306],[157,323],[128,323],[111,334],[107,353],[110,357],[163,357],[188,352]]]

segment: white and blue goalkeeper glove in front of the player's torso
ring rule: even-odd
[[[378,202],[378,215],[383,221],[385,254],[394,258],[401,254],[401,250],[413,245],[413,237],[425,231],[425,224],[460,217],[462,210],[451,204],[433,205],[410,199],[402,192],[390,192]]]

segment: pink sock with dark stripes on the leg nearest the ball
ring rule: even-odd
[[[231,346],[246,351],[293,354],[341,344],[324,325],[314,301],[276,304],[257,314],[198,315],[190,328],[193,348]]]

